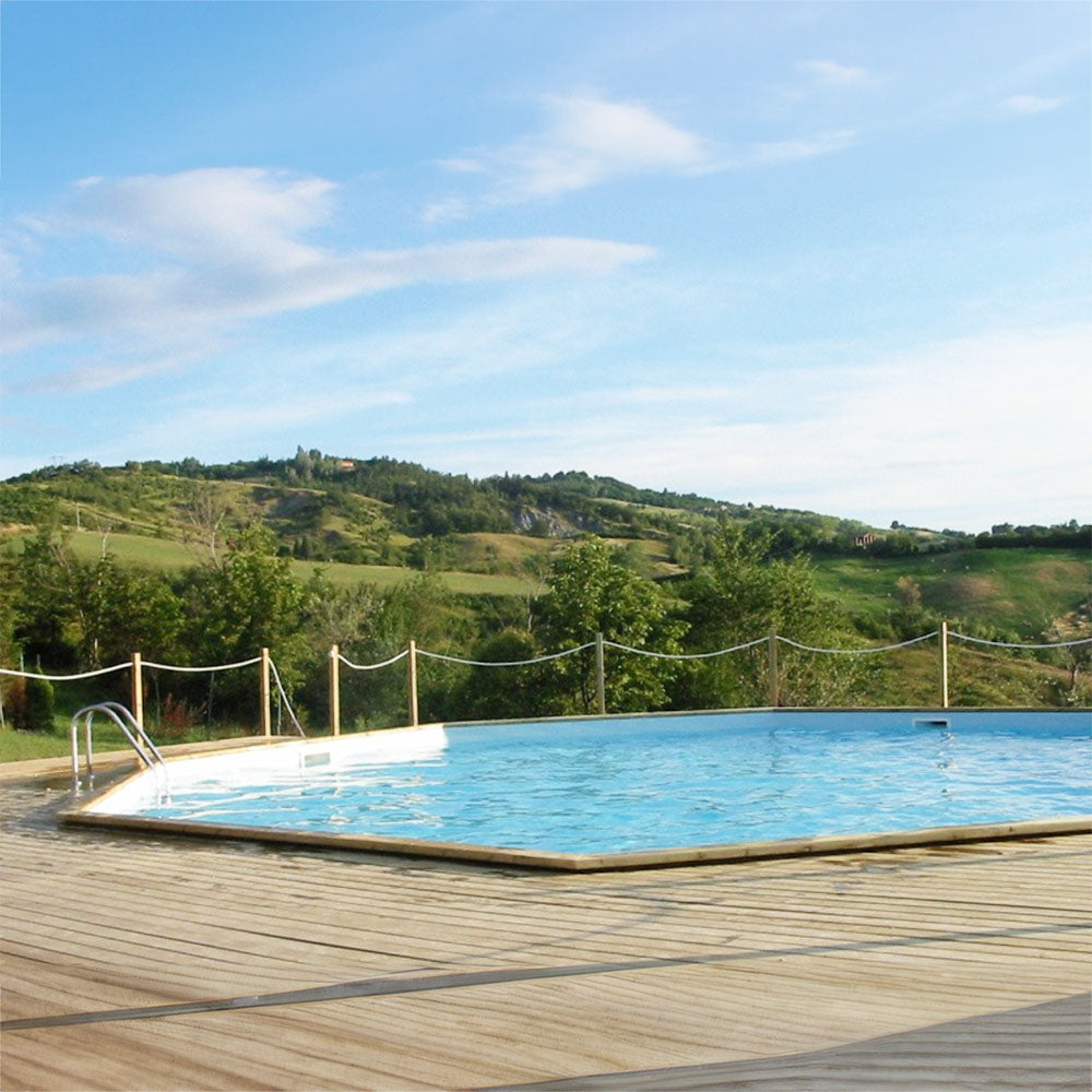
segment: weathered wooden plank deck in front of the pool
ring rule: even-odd
[[[605,875],[59,830],[2,1088],[1087,1089],[1092,836]]]

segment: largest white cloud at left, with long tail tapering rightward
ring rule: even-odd
[[[249,168],[86,179],[61,211],[38,217],[38,239],[105,240],[114,268],[138,271],[15,281],[3,348],[73,345],[85,359],[69,375],[86,390],[192,358],[260,316],[423,283],[602,275],[653,253],[565,237],[336,251],[305,238],[330,219],[332,191],[323,179]]]

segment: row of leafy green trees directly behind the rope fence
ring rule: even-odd
[[[81,560],[63,534],[44,529],[0,561],[0,660],[69,674],[124,663],[134,650],[145,661],[211,666],[269,648],[293,705],[321,729],[329,700],[325,653],[334,644],[368,664],[400,652],[411,638],[430,651],[487,663],[533,660],[595,633],[674,654],[727,648],[771,630],[819,646],[852,641],[846,619],[819,594],[809,563],[771,558],[768,547],[726,527],[698,577],[664,586],[636,571],[631,553],[587,536],[554,556],[537,594],[474,602],[454,596],[430,572],[389,591],[333,586],[321,571],[301,581],[262,525],[173,574],[121,565],[108,550]],[[792,660],[793,652],[783,655]],[[859,661],[833,660],[800,657],[784,673],[785,703],[844,699]],[[430,720],[594,709],[592,650],[514,668],[426,660],[420,670],[422,715]],[[764,648],[704,661],[612,653],[607,707],[637,712],[764,704],[767,672]],[[149,669],[145,685],[153,725],[253,723],[254,681],[247,672]],[[121,700],[127,686],[127,673],[94,680],[96,692],[112,688],[117,692],[107,697]],[[4,687],[5,709],[17,714],[21,687],[10,680]],[[404,723],[404,672],[345,670],[342,705],[349,726]]]

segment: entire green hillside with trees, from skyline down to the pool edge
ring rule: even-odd
[[[989,640],[1092,633],[1089,527],[985,535],[638,489],[567,473],[474,482],[387,459],[298,451],[227,466],[84,463],[0,483],[0,662],[49,673],[147,660],[197,666],[262,646],[294,704],[324,723],[325,652],[384,660],[413,638],[486,662],[608,641],[704,653],[776,630],[817,648],[906,640],[941,619]],[[864,545],[854,545],[862,541]],[[869,538],[868,536],[874,536]],[[462,570],[462,571],[460,571]],[[965,703],[1088,701],[1089,645],[953,653]],[[764,646],[709,661],[609,649],[614,711],[763,704]],[[935,701],[935,653],[816,655],[782,646],[786,703]],[[590,652],[519,668],[423,661],[422,714],[529,716],[592,708]],[[254,721],[253,680],[149,673],[151,720]],[[123,697],[123,675],[104,687]],[[50,723],[73,688],[3,684],[17,724]],[[401,669],[346,672],[346,723],[404,721]],[[80,693],[82,697],[82,692]],[[74,707],[72,707],[74,708]]]

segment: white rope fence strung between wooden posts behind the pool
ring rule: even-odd
[[[415,641],[410,641],[407,648],[395,653],[394,655],[379,661],[372,664],[358,664],[354,663],[347,656],[343,655],[337,645],[333,645],[329,653],[329,690],[330,690],[330,731],[333,735],[341,734],[341,680],[340,680],[340,668],[344,665],[352,672],[377,672],[384,667],[391,667],[396,663],[406,661],[406,672],[407,672],[407,684],[408,684],[408,704],[407,704],[407,716],[410,724],[418,723],[418,701],[417,701],[417,661],[418,657],[425,657],[427,660],[439,661],[449,664],[455,664],[464,667],[474,668],[514,668],[514,667],[532,667],[541,664],[550,663],[553,661],[562,660],[567,656],[575,655],[580,652],[586,652],[590,649],[595,650],[595,676],[596,676],[596,704],[598,707],[600,713],[606,713],[605,703],[605,651],[610,649],[615,652],[620,652],[628,655],[646,656],[655,660],[673,661],[673,662],[695,662],[695,661],[708,661],[720,656],[726,656],[732,653],[744,652],[749,649],[755,649],[759,645],[765,645],[769,655],[769,685],[770,685],[770,705],[776,707],[780,704],[781,696],[781,673],[778,666],[778,645],[784,644],[790,648],[799,650],[802,652],[808,652],[819,655],[834,655],[834,656],[871,656],[878,653],[895,652],[902,649],[907,649],[913,645],[922,644],[923,642],[938,639],[938,652],[939,652],[939,666],[938,666],[938,692],[939,692],[939,704],[942,708],[948,708],[949,704],[949,666],[948,666],[948,648],[950,641],[963,641],[970,644],[986,645],[994,649],[1012,649],[1012,650],[1031,650],[1031,651],[1056,651],[1061,649],[1072,649],[1083,645],[1092,644],[1092,637],[1088,638],[1077,638],[1069,641],[1056,641],[1053,643],[1023,643],[1023,642],[1012,642],[1012,641],[993,641],[986,640],[985,638],[972,637],[968,633],[959,633],[954,630],[948,629],[947,622],[941,622],[940,629],[933,630],[928,633],[923,633],[921,637],[911,638],[906,641],[900,641],[894,644],[883,644],[883,645],[873,645],[860,649],[820,649],[814,648],[808,644],[803,644],[798,641],[794,641],[791,638],[783,637],[780,633],[771,632],[765,637],[759,637],[751,641],[746,641],[741,644],[735,644],[726,649],[715,649],[711,652],[661,652],[655,649],[638,649],[632,645],[621,644],[617,641],[607,640],[602,633],[596,633],[595,639],[592,641],[586,641],[583,644],[579,644],[571,649],[563,649],[559,652],[550,652],[541,656],[533,656],[527,660],[505,660],[505,661],[484,661],[484,660],[471,660],[462,656],[450,655],[448,653],[432,652],[427,649],[418,649]],[[277,670],[276,665],[270,657],[269,649],[262,649],[261,653],[257,656],[252,656],[249,660],[241,660],[229,664],[212,664],[202,667],[191,667],[180,664],[162,664],[154,661],[143,661],[139,652],[132,654],[131,660],[128,663],[114,664],[109,667],[100,667],[95,670],[80,672],[67,675],[49,675],[41,672],[27,672],[20,668],[19,670],[14,668],[0,667],[0,676],[7,678],[23,678],[23,679],[39,679],[49,682],[64,682],[64,681],[75,681],[81,679],[92,679],[100,677],[104,675],[114,674],[122,670],[130,670],[132,673],[131,677],[131,698],[132,698],[132,713],[136,720],[136,723],[143,727],[143,695],[144,695],[144,684],[142,672],[144,668],[154,668],[157,670],[166,672],[177,672],[183,674],[215,674],[219,672],[227,670],[238,670],[248,667],[259,666],[259,713],[261,721],[262,734],[265,736],[271,736],[272,731],[272,701],[273,701],[273,689],[272,684],[275,684],[275,693],[280,702],[277,707],[277,720],[280,724],[281,709],[283,708],[288,715],[296,733],[300,736],[305,734],[304,727],[297,717],[295,711],[292,708],[292,703],[288,700],[288,693],[281,678],[281,673]],[[39,665],[40,666],[40,665]],[[0,725],[3,725],[3,713],[2,704],[0,704]],[[280,732],[277,733],[280,734]]]

